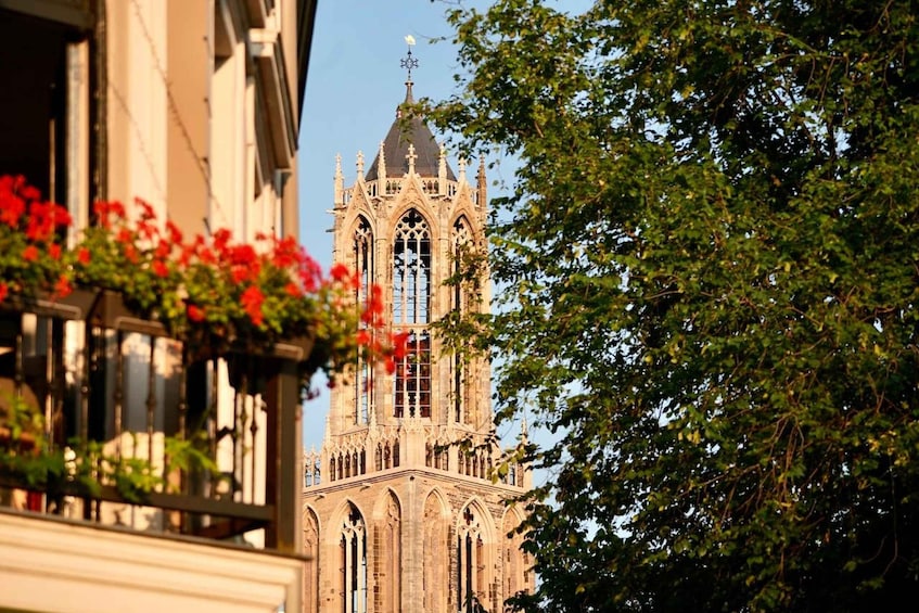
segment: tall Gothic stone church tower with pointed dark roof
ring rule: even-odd
[[[410,103],[410,51],[403,64]],[[334,260],[359,271],[358,292],[383,288],[409,350],[395,374],[358,363],[332,389],[321,454],[306,458],[307,612],[500,612],[533,588],[521,538],[508,536],[523,515],[505,502],[531,476],[512,467],[492,478],[501,450],[488,365],[445,355],[432,330],[449,311],[489,301],[487,273],[445,284],[458,254],[485,248],[484,164],[474,183],[464,161],[457,168],[423,119],[398,111],[369,168],[357,154],[350,187],[339,159]]]

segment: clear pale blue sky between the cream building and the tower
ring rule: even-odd
[[[448,42],[445,11],[452,2],[431,0],[319,0],[299,135],[301,240],[328,270],[332,259],[335,155],[342,155],[345,184],[354,183],[362,151],[367,165],[405,99],[406,71],[399,62],[416,39],[412,71],[416,98],[445,98],[454,90],[457,62]],[[456,164],[452,162],[454,166]],[[322,442],[329,391],[304,407],[304,444]]]

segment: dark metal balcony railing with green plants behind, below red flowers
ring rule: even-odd
[[[309,353],[182,342],[109,291],[8,298],[0,507],[294,554]]]

